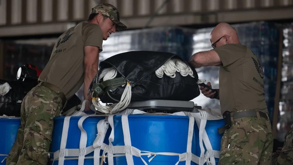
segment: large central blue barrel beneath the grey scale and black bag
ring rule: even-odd
[[[141,151],[184,153],[187,149],[188,116],[128,115],[131,144]],[[115,138],[113,145],[124,145],[121,115],[114,116]],[[193,136],[192,153],[195,154]],[[151,158],[142,156],[148,162]],[[175,164],[179,156],[157,155],[149,165]],[[133,156],[135,165],[144,165],[139,157]],[[114,157],[115,165],[126,165],[125,156]],[[183,165],[185,162],[180,162]],[[191,162],[191,164],[195,164]]]

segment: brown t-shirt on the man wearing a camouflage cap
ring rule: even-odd
[[[73,96],[84,82],[84,47],[97,46],[101,52],[103,35],[97,24],[80,22],[58,38],[39,81],[59,87],[66,98]]]

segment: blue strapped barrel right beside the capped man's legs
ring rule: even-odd
[[[63,130],[63,123],[64,123],[65,117],[56,117],[54,118],[54,129],[53,129],[53,135],[52,135],[52,143],[50,147],[50,152],[56,152],[60,149],[60,143],[61,143],[61,136],[62,136],[62,130]],[[67,143],[66,143],[66,149],[79,149],[79,140],[81,131],[78,128],[78,120],[81,118],[81,116],[73,116],[70,118],[69,122],[69,129],[68,129],[68,136],[67,136]],[[105,117],[88,117],[84,120],[82,127],[87,132],[87,144],[86,147],[91,146],[93,142],[96,139],[97,135],[97,123],[105,119]],[[110,129],[108,130],[108,134],[110,134]],[[109,135],[106,135],[104,143],[109,144]],[[102,153],[102,151],[101,151]],[[93,152],[86,155],[87,156],[93,156]],[[67,158],[67,157],[65,157]],[[50,164],[57,165],[58,160],[52,161],[53,154],[50,154]],[[94,163],[93,159],[85,159],[84,161],[85,165],[92,165]],[[64,160],[64,165],[74,165],[78,164],[78,159],[76,160]]]

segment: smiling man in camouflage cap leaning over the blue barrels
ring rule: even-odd
[[[7,157],[8,165],[48,163],[52,141],[53,118],[60,116],[66,101],[84,84],[84,99],[98,73],[103,40],[126,29],[115,6],[100,4],[92,9],[88,21],[69,28],[57,39],[39,84],[24,97],[21,125]],[[90,111],[86,105],[86,112]]]

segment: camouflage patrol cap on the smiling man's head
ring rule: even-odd
[[[116,24],[117,31],[125,30],[127,28],[125,24],[122,24],[120,22],[119,12],[117,8],[111,4],[99,4],[92,8],[92,13],[101,13],[103,16],[107,16],[108,18],[110,18],[110,20],[112,20]]]

